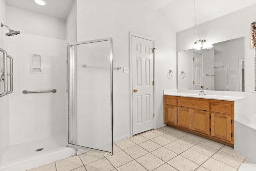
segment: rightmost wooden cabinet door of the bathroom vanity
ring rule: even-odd
[[[211,113],[211,135],[231,141],[231,116]]]

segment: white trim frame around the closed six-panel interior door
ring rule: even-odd
[[[150,40],[153,42],[153,49],[155,48],[155,39],[150,38],[147,36],[144,36],[142,34],[137,34],[134,32],[130,32],[130,137],[133,136],[133,115],[132,115],[132,109],[133,109],[133,101],[132,101],[132,36]],[[155,53],[153,53],[153,80],[155,81]],[[156,86],[154,84],[153,86],[153,112],[155,113],[155,95],[156,93]],[[154,119],[154,129],[156,129],[156,120]]]

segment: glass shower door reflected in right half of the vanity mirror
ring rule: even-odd
[[[228,66],[214,67],[214,90],[228,91]]]

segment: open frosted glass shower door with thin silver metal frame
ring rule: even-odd
[[[68,44],[68,146],[113,153],[112,38]]]

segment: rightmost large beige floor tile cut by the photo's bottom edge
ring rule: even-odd
[[[236,171],[237,169],[215,159],[208,159],[202,167],[210,171]]]

